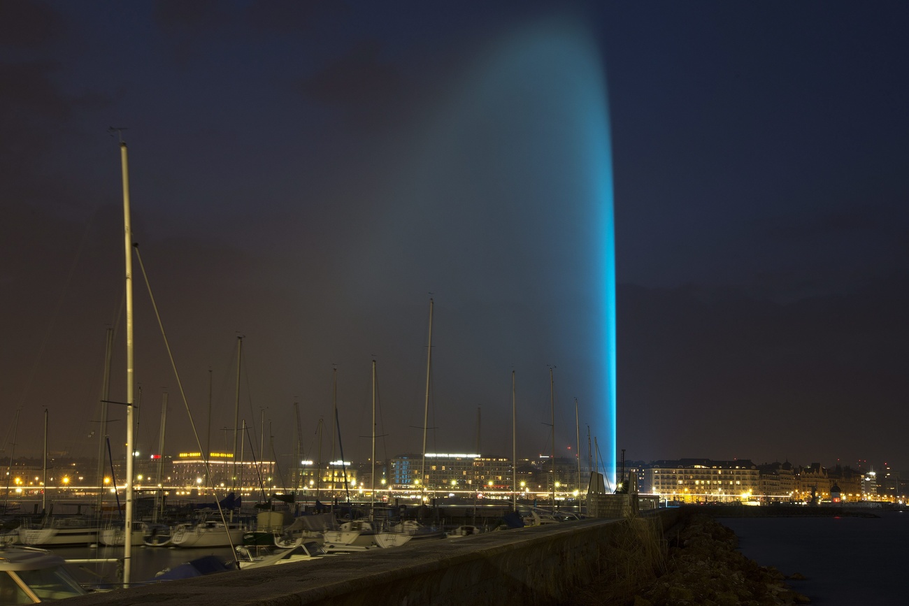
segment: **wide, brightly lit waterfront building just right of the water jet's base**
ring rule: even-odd
[[[644,491],[668,501],[735,502],[760,490],[757,465],[747,459],[656,461],[644,469]]]

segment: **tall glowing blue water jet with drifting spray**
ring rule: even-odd
[[[557,392],[569,396],[560,403],[578,397],[614,482],[613,174],[599,49],[583,25],[550,20],[477,55],[410,135],[417,151],[375,230],[383,237],[370,243],[376,258],[395,258],[400,276],[365,264],[358,277],[392,297],[445,284],[440,300],[464,323],[450,328],[454,338],[482,324],[489,342],[507,343],[476,352],[464,337],[475,366],[484,355],[490,367],[514,361],[526,385],[528,373],[542,380],[556,363]],[[526,324],[541,322],[549,333],[528,336]],[[566,408],[559,444],[574,443]]]

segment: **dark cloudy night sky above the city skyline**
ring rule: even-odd
[[[108,326],[125,398],[120,126],[203,442],[243,334],[256,448],[264,410],[289,461],[299,402],[330,451],[336,367],[365,460],[375,359],[377,455],[420,452],[433,297],[428,450],[474,452],[479,409],[510,456],[514,371],[518,455],[548,453],[554,366],[557,452],[576,398],[585,458],[611,132],[618,447],[909,472],[909,5],[564,6],[0,2],[3,456],[40,455],[45,408],[52,452],[95,455]],[[134,263],[138,448],[166,391],[166,452],[197,450]]]

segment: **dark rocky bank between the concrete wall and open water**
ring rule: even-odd
[[[773,567],[759,566],[737,551],[738,537],[706,515],[686,515],[659,538],[653,522],[629,520],[625,539],[616,541],[609,561],[599,562],[593,583],[570,601],[582,606],[776,606],[811,600],[786,583]],[[648,534],[650,536],[648,536]]]

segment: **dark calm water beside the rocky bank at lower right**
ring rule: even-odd
[[[762,566],[784,574],[813,604],[909,603],[909,512],[880,518],[723,518],[739,548]]]

